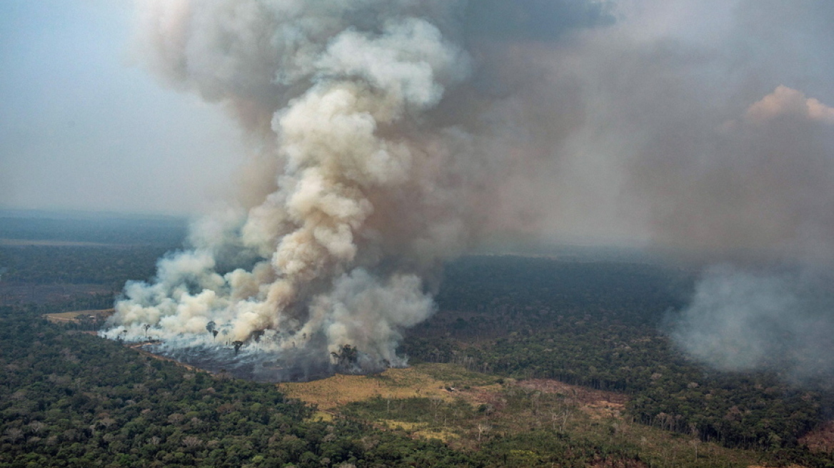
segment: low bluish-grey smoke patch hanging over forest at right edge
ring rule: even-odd
[[[672,337],[723,371],[770,370],[791,381],[831,376],[834,291],[819,271],[704,272]]]

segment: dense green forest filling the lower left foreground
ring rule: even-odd
[[[314,409],[276,386],[188,371],[0,308],[0,467],[480,466]]]

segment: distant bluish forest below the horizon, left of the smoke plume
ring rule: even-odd
[[[96,295],[108,296],[107,308],[126,281],[151,278],[158,258],[182,248],[186,234],[177,218],[37,214],[0,217],[0,304]]]

